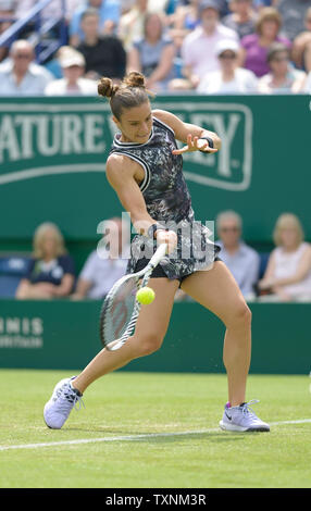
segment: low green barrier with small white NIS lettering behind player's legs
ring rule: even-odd
[[[311,304],[249,306],[253,317],[251,373],[308,375]],[[0,369],[84,369],[102,348],[100,307],[94,300],[1,300]],[[223,373],[224,333],[223,323],[203,307],[175,303],[161,349],[122,371]]]

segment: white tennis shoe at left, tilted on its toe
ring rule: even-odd
[[[73,388],[71,378],[64,378],[59,382],[53,390],[51,399],[46,403],[43,410],[45,422],[51,429],[60,429],[66,422],[73,408],[76,408],[78,403],[80,409],[84,402],[82,400],[82,394]]]

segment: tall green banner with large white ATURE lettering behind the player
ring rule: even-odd
[[[189,153],[185,176],[197,220],[224,209],[244,219],[249,242],[269,244],[284,211],[298,214],[311,239],[309,96],[172,96],[152,107],[216,132],[217,154]],[[55,222],[69,240],[96,240],[102,220],[122,209],[105,179],[115,133],[100,98],[0,100],[0,242],[30,240]]]

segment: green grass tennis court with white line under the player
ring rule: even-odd
[[[260,399],[270,433],[219,428],[223,374],[130,372],[96,382],[86,409],[48,429],[43,404],[72,374],[0,371],[1,488],[311,487],[307,375],[249,376],[247,399]]]

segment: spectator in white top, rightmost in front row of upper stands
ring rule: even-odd
[[[289,61],[288,47],[274,42],[268,51],[270,73],[263,75],[258,83],[262,94],[297,92],[306,79],[303,71],[296,70]]]

